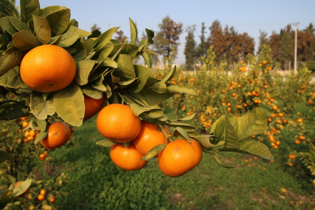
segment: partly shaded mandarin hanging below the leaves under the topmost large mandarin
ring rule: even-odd
[[[48,128],[48,135],[40,141],[47,149],[60,147],[70,139],[70,128],[63,122],[54,122]]]

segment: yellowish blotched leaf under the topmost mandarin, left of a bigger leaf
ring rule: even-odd
[[[37,119],[45,120],[48,115],[53,115],[56,110],[52,98],[45,100],[42,93],[32,91],[30,108]]]

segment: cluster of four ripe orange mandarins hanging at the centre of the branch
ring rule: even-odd
[[[159,126],[140,120],[131,108],[123,104],[110,104],[97,115],[96,127],[105,138],[116,142],[110,147],[110,158],[122,169],[134,171],[142,169],[148,161],[141,158],[153,147],[165,144],[165,135]],[[168,135],[171,132],[162,127]],[[202,159],[201,146],[194,139],[176,139],[169,142],[160,151],[158,165],[161,171],[169,177],[179,177],[196,167]],[[121,143],[130,142],[128,147]]]

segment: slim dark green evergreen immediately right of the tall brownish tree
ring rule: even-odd
[[[186,58],[186,68],[188,70],[193,69],[193,65],[196,59],[196,43],[194,40],[194,31],[196,25],[188,26],[186,32],[188,32],[186,36],[186,45],[185,45],[185,58]]]

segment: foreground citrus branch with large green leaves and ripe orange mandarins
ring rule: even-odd
[[[40,142],[50,150],[66,144],[71,137],[67,124],[81,126],[100,112],[96,127],[105,139],[96,144],[110,147],[112,161],[126,170],[139,170],[158,157],[164,174],[179,177],[200,163],[203,152],[227,168],[236,166],[224,165],[217,153],[273,159],[266,145],[249,139],[266,130],[262,108],[236,118],[226,106],[203,135],[183,122],[195,114],[173,120],[163,113],[157,104],[178,94],[198,94],[172,82],[176,66],[163,78],[151,75],[151,56],[156,55],[148,49],[154,37],[151,30],[145,29],[147,38],[136,45],[138,30],[131,19],[131,39],[120,42],[112,39],[116,27],[103,33],[80,30],[63,6],[40,8],[38,0],[21,0],[19,14],[9,0],[0,4],[0,85],[21,98],[3,97],[0,120],[31,116],[29,124],[38,131],[35,145]],[[134,64],[139,56],[145,65]],[[212,77],[215,81],[221,75]],[[1,150],[1,162],[9,157]],[[11,208],[12,199],[26,195],[29,187],[31,181],[24,181],[3,192],[1,207]]]

